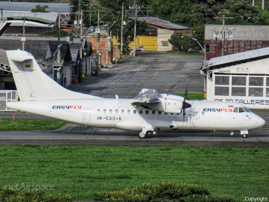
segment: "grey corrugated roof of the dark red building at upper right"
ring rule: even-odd
[[[222,25],[205,25],[205,40],[213,40],[214,33],[221,33]],[[225,25],[225,32],[233,34],[233,40],[269,40],[269,26]]]

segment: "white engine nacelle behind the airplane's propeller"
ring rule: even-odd
[[[151,110],[167,113],[181,113],[183,101],[171,98],[159,98],[161,102],[152,103]]]

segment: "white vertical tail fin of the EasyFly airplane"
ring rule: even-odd
[[[100,98],[73,92],[60,86],[42,72],[33,55],[26,51],[6,52],[21,101]]]

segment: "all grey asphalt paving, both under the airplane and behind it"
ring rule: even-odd
[[[200,67],[203,57],[178,54],[140,53],[139,57],[127,57],[118,66],[101,69],[97,77],[84,78],[68,89],[100,97],[135,97],[142,88],[158,89],[175,94],[203,92],[203,76]],[[265,119],[265,126],[249,131],[247,138],[239,133],[158,133],[139,139],[136,132],[117,129],[100,129],[65,124],[54,131],[2,131],[0,145],[192,145],[192,146],[269,146],[268,110],[252,110]],[[1,112],[0,119],[12,119],[13,113]],[[16,119],[48,119],[29,113],[15,113]]]

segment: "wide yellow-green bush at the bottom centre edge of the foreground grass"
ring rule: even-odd
[[[106,202],[233,202],[233,198],[224,196],[212,196],[210,192],[202,186],[182,183],[163,182],[160,185],[144,183],[133,189],[127,188],[123,191],[96,193],[94,201]]]

